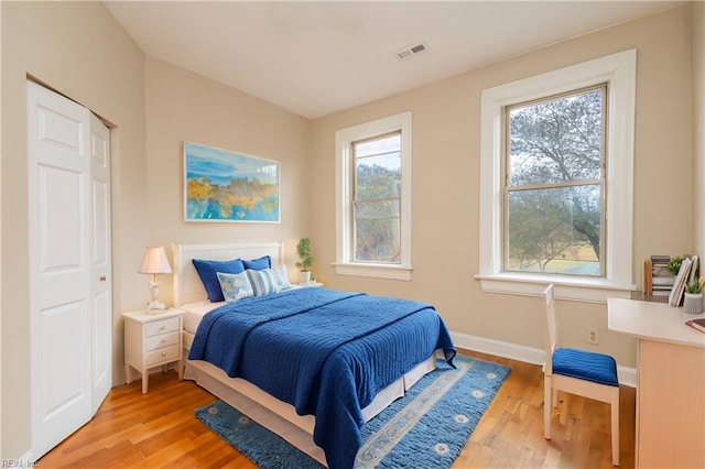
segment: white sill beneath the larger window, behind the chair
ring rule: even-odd
[[[539,296],[550,283],[555,285],[557,299],[583,303],[606,303],[608,297],[629,298],[636,285],[617,285],[605,279],[570,279],[564,275],[519,273],[477,274],[482,292],[506,295]]]

